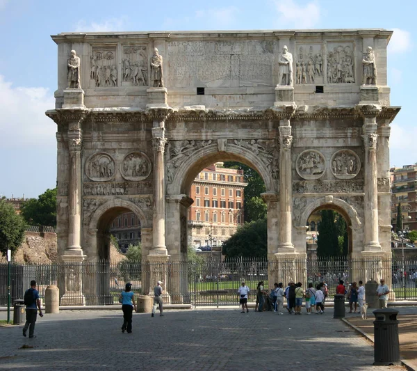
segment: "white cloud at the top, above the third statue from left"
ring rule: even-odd
[[[320,22],[320,6],[317,1],[310,1],[305,6],[294,0],[275,0],[274,3],[279,14],[280,29],[311,29]]]

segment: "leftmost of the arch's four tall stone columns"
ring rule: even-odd
[[[67,253],[82,255],[81,250],[81,129],[68,133],[70,151],[69,220]]]

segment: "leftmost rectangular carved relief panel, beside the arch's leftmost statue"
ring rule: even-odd
[[[93,47],[90,56],[90,87],[113,88],[117,86],[117,59],[115,47]]]

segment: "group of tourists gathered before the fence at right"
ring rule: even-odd
[[[289,314],[301,315],[302,303],[305,301],[306,314],[311,315],[313,310],[316,310],[316,314],[325,313],[325,301],[329,296],[329,289],[325,281],[318,283],[316,287],[313,287],[313,283],[309,283],[309,287],[304,290],[302,283],[295,283],[291,281],[284,289],[283,284],[274,283],[274,288],[268,292],[265,290],[263,281],[260,281],[256,287],[256,304],[255,312],[274,311],[279,315],[284,314],[284,298],[286,299],[286,310]],[[381,279],[380,285],[377,288],[378,306],[379,308],[386,308],[388,302],[389,287],[385,285],[384,279]],[[242,281],[242,285],[238,289],[238,295],[240,295],[240,305],[242,306],[241,313],[248,313],[247,299],[249,298],[250,288],[247,287],[245,281]],[[359,281],[359,285],[356,282],[344,285],[344,281],[340,280],[336,287],[336,294],[345,295],[349,301],[350,312],[359,313],[364,304],[365,299],[365,287],[363,282]],[[359,305],[359,307],[358,307]]]

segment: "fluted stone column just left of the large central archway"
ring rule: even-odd
[[[154,248],[150,254],[167,255],[165,246],[165,164],[164,152],[165,128],[152,128],[152,144],[154,145]]]

